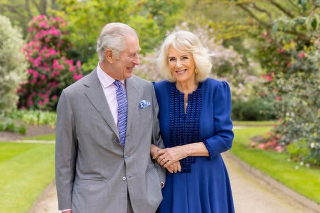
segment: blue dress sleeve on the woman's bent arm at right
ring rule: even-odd
[[[210,159],[232,147],[231,92],[227,82],[222,81],[213,95],[214,135],[203,141]]]

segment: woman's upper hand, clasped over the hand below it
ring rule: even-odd
[[[170,165],[186,157],[187,154],[183,146],[177,146],[156,151],[153,159],[155,159],[159,165],[168,169]]]

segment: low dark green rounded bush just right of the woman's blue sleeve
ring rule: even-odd
[[[232,119],[240,121],[274,120],[272,102],[267,102],[259,97],[248,100],[235,100],[232,103]]]

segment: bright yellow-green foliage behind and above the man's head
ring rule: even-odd
[[[166,2],[58,0],[57,2],[60,8],[51,12],[68,21],[69,37],[74,44],[68,56],[81,60],[85,73],[91,72],[97,66],[98,57],[95,53],[97,39],[107,23],[122,22],[132,26],[139,35],[141,53],[145,54],[161,43],[167,27],[175,25],[176,13],[184,5],[177,0]]]

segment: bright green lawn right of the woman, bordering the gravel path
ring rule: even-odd
[[[271,127],[235,129],[231,153],[296,192],[320,203],[320,168],[307,168],[288,161],[289,155],[275,151],[263,151],[250,147],[250,137],[265,133]],[[297,168],[298,166],[298,168]]]

